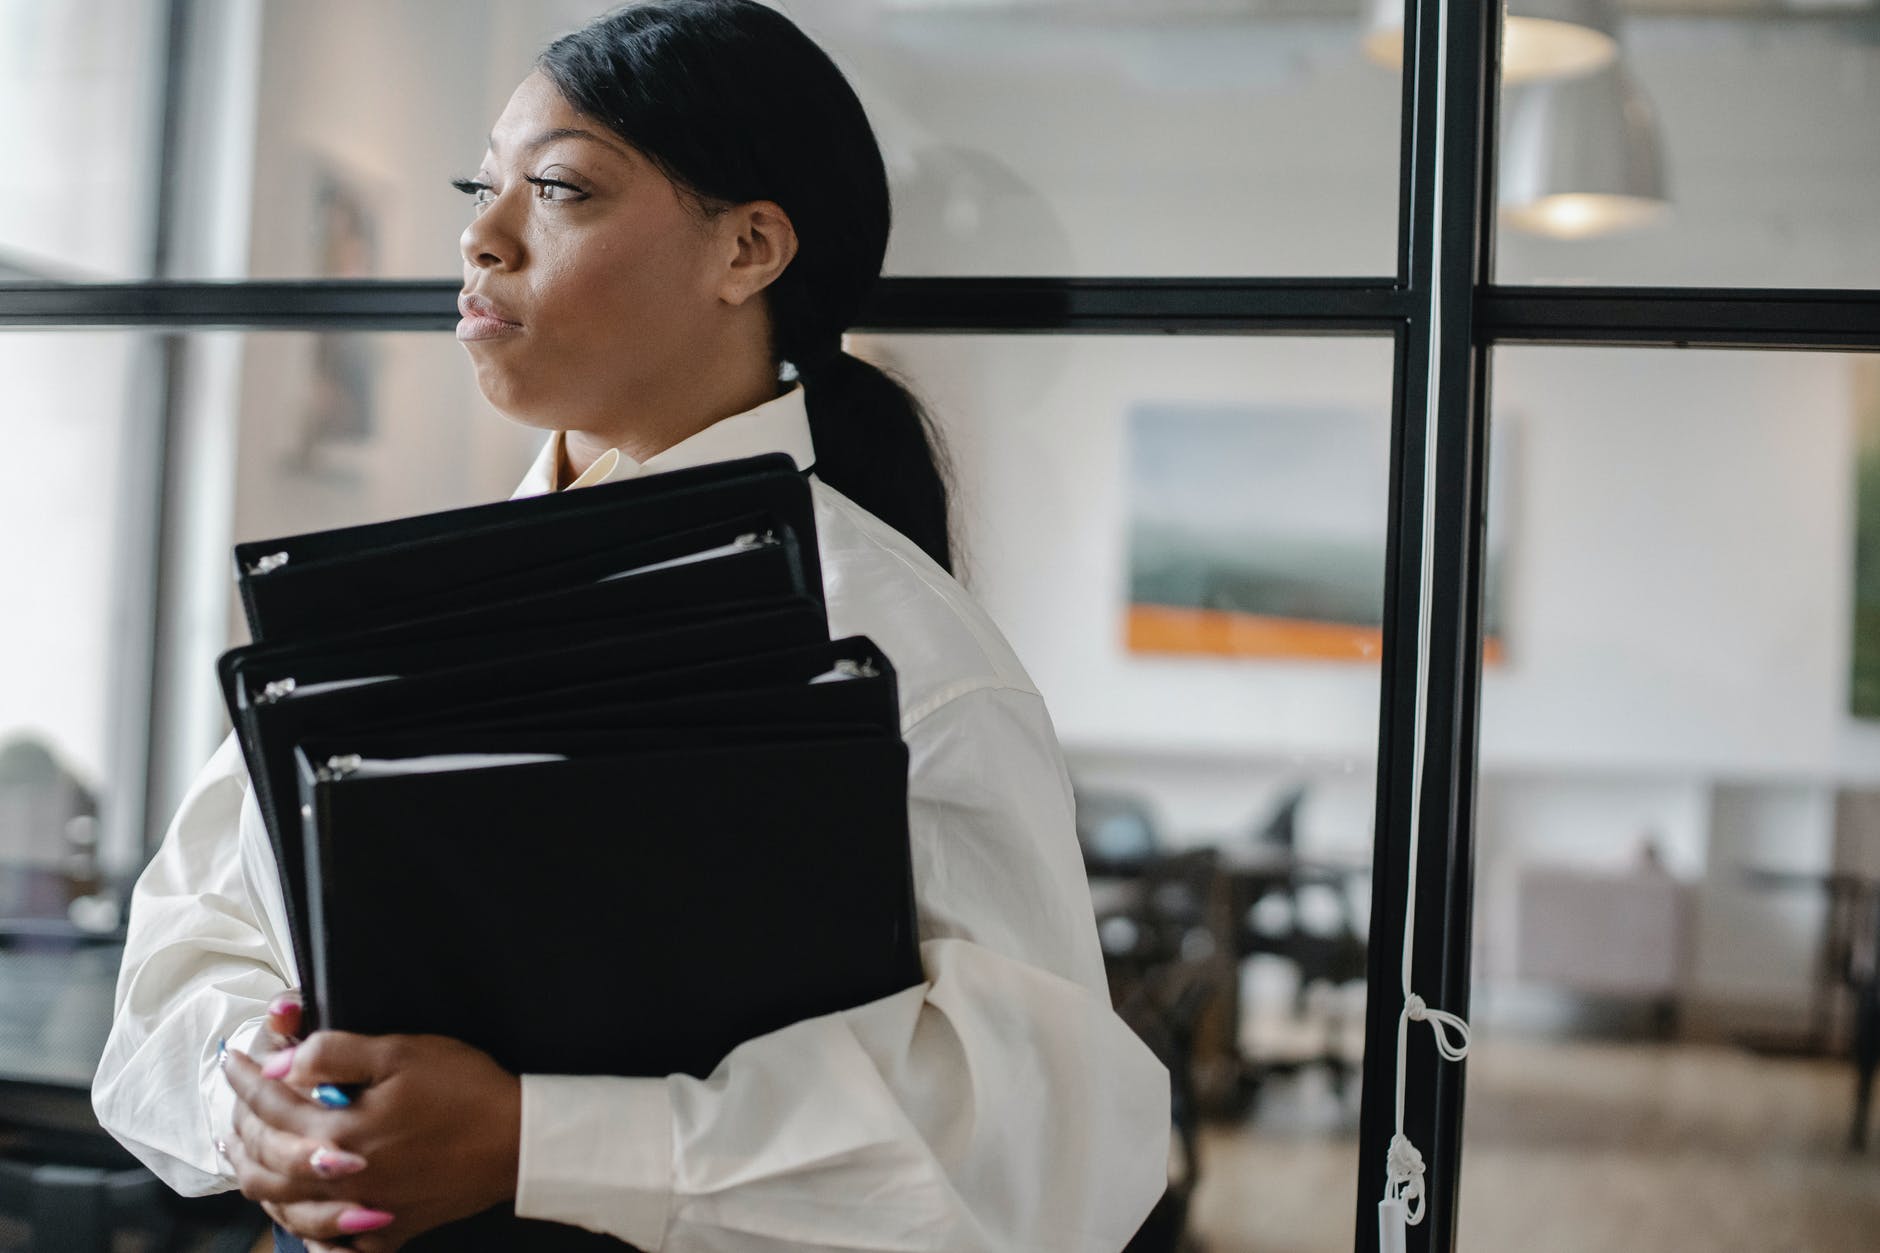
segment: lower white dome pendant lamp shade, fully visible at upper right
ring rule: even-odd
[[[1643,226],[1669,209],[1658,119],[1621,66],[1512,94],[1502,218],[1555,239]]]

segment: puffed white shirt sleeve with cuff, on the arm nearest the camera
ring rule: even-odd
[[[690,1076],[523,1076],[515,1210],[662,1253],[1115,1253],[1167,1180],[1167,1071],[1104,982],[1038,694],[906,730],[927,982]]]

